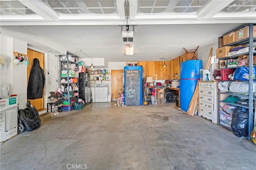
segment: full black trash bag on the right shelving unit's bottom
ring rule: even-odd
[[[248,116],[249,109],[244,107],[236,107],[234,109],[231,121],[231,129],[236,136],[248,136]]]

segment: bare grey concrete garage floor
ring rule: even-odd
[[[256,146],[175,104],[92,103],[0,147],[1,170],[255,170]]]

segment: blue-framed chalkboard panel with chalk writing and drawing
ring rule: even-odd
[[[124,67],[124,104],[142,105],[142,66]]]

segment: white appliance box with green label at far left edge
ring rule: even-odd
[[[0,142],[18,134],[18,98],[0,100]]]

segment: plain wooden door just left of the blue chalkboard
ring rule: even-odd
[[[118,99],[120,90],[124,92],[124,70],[111,70],[111,100]]]

